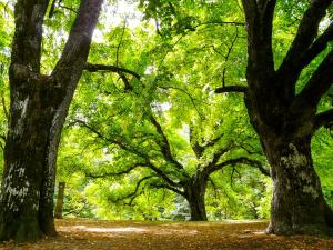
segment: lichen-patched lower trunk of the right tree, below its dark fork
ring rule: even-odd
[[[287,137],[275,140],[266,137],[265,141],[274,141],[265,144],[274,183],[268,231],[276,234],[330,233],[333,218],[313,169],[311,138],[290,141]]]

